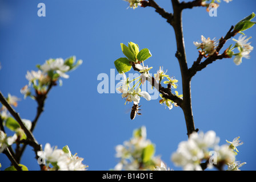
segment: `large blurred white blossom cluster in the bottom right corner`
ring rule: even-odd
[[[223,169],[223,165],[227,166],[227,170],[237,171],[243,164],[235,161],[237,155],[237,147],[242,144],[239,137],[229,144],[219,146],[219,137],[214,131],[208,131],[203,134],[193,133],[187,141],[179,143],[178,149],[171,156],[171,160],[176,166],[181,166],[184,170],[202,170],[201,163],[206,162],[207,167],[213,166]]]

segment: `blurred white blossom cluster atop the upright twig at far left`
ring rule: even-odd
[[[21,93],[24,98],[30,96],[34,99],[35,96],[31,94],[31,88],[34,88],[37,94],[45,94],[50,85],[56,84],[57,81],[61,85],[62,80],[60,77],[69,78],[67,72],[74,70],[81,64],[82,60],[78,60],[75,63],[75,56],[71,56],[66,60],[62,58],[46,60],[44,64],[37,65],[38,71],[27,71],[26,78],[29,84],[21,89]]]

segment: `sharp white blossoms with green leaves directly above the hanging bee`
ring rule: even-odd
[[[167,81],[163,82],[164,84],[169,85],[169,88],[178,88],[178,80],[174,77],[166,75],[167,71],[163,71],[163,68],[161,67],[157,73],[154,74],[154,77],[152,76],[150,69],[153,67],[144,65],[144,61],[151,57],[149,49],[145,48],[139,51],[138,45],[133,42],[130,42],[128,47],[121,43],[121,48],[123,54],[127,58],[121,57],[118,60],[115,60],[115,67],[117,68],[119,74],[123,76],[122,81],[118,83],[120,86],[117,88],[117,90],[119,93],[122,93],[122,98],[125,98],[126,102],[134,102],[135,105],[138,105],[141,97],[144,97],[147,101],[151,100],[150,94],[144,90],[142,91],[140,88],[141,85],[145,83],[145,81],[149,81],[152,87],[154,86],[155,88],[159,88],[159,84],[161,84],[162,80],[167,78]],[[134,69],[141,73],[139,77],[134,78],[133,80],[130,80],[130,78],[126,77],[125,75],[125,72],[131,69],[131,63],[133,63]],[[183,97],[183,95],[178,94],[177,91],[175,91],[175,94],[177,97]],[[163,97],[162,94],[159,94],[159,96],[162,98],[159,101],[161,105],[166,105],[169,109],[173,108],[173,104],[174,106],[178,106],[175,102]]]

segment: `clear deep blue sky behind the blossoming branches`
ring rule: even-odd
[[[37,15],[41,2],[46,5],[45,17]],[[169,0],[156,2],[172,11]],[[225,36],[231,25],[255,12],[255,3],[223,1],[216,17],[210,17],[203,7],[183,11],[189,67],[198,56],[194,41],[200,40],[201,35],[211,39]],[[160,155],[170,168],[179,170],[170,156],[179,142],[187,140],[181,108],[165,109],[159,99],[142,98],[142,115],[131,121],[127,110],[132,105],[124,105],[120,94],[97,91],[101,82],[98,75],[106,73],[110,77],[114,61],[123,57],[120,43],[134,42],[152,53],[145,61],[153,67],[151,73],[156,73],[160,66],[168,69],[168,75],[179,80],[177,90],[182,93],[173,28],[151,7],[133,10],[126,9],[127,6],[121,0],[0,0],[0,90],[5,96],[10,93],[21,98],[15,109],[21,118],[33,120],[37,104],[30,98],[23,100],[19,92],[27,84],[26,72],[37,70],[35,65],[47,59],[75,55],[83,64],[69,73],[70,78],[62,79],[62,86],[55,86],[49,93],[45,111],[34,130],[38,142],[43,147],[46,143],[58,148],[67,144],[73,154],[84,158],[89,170],[109,170],[118,163],[115,146],[130,139],[134,129],[146,126],[147,138],[156,146],[155,155]],[[253,47],[255,28],[245,31],[248,37],[252,36]],[[229,40],[225,47],[231,43],[234,42]],[[220,144],[241,137],[244,144],[238,148],[237,160],[247,163],[243,170],[256,169],[255,50],[250,56],[239,66],[233,59],[215,61],[191,82],[195,127],[204,132],[214,130],[221,138]],[[9,166],[3,154],[0,162],[2,169]],[[39,169],[31,147],[27,147],[21,163],[31,170]]]

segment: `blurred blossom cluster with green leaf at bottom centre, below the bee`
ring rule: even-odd
[[[162,162],[159,156],[154,156],[155,147],[146,138],[146,127],[134,130],[133,138],[115,147],[115,156],[120,159],[114,170],[141,171],[156,170],[167,171],[170,168]]]

